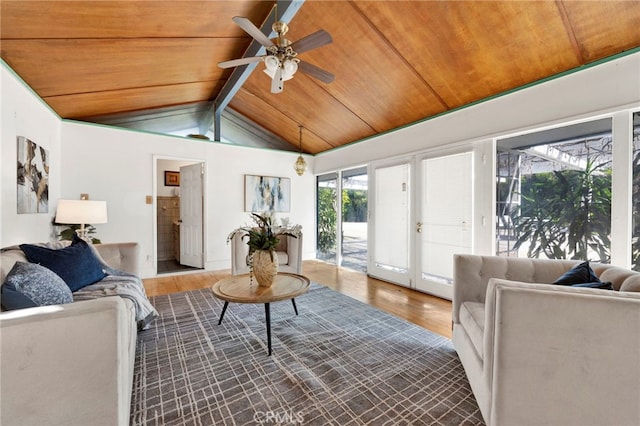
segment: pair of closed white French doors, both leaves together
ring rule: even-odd
[[[453,255],[473,248],[473,154],[373,165],[370,253],[374,277],[453,295]]]

